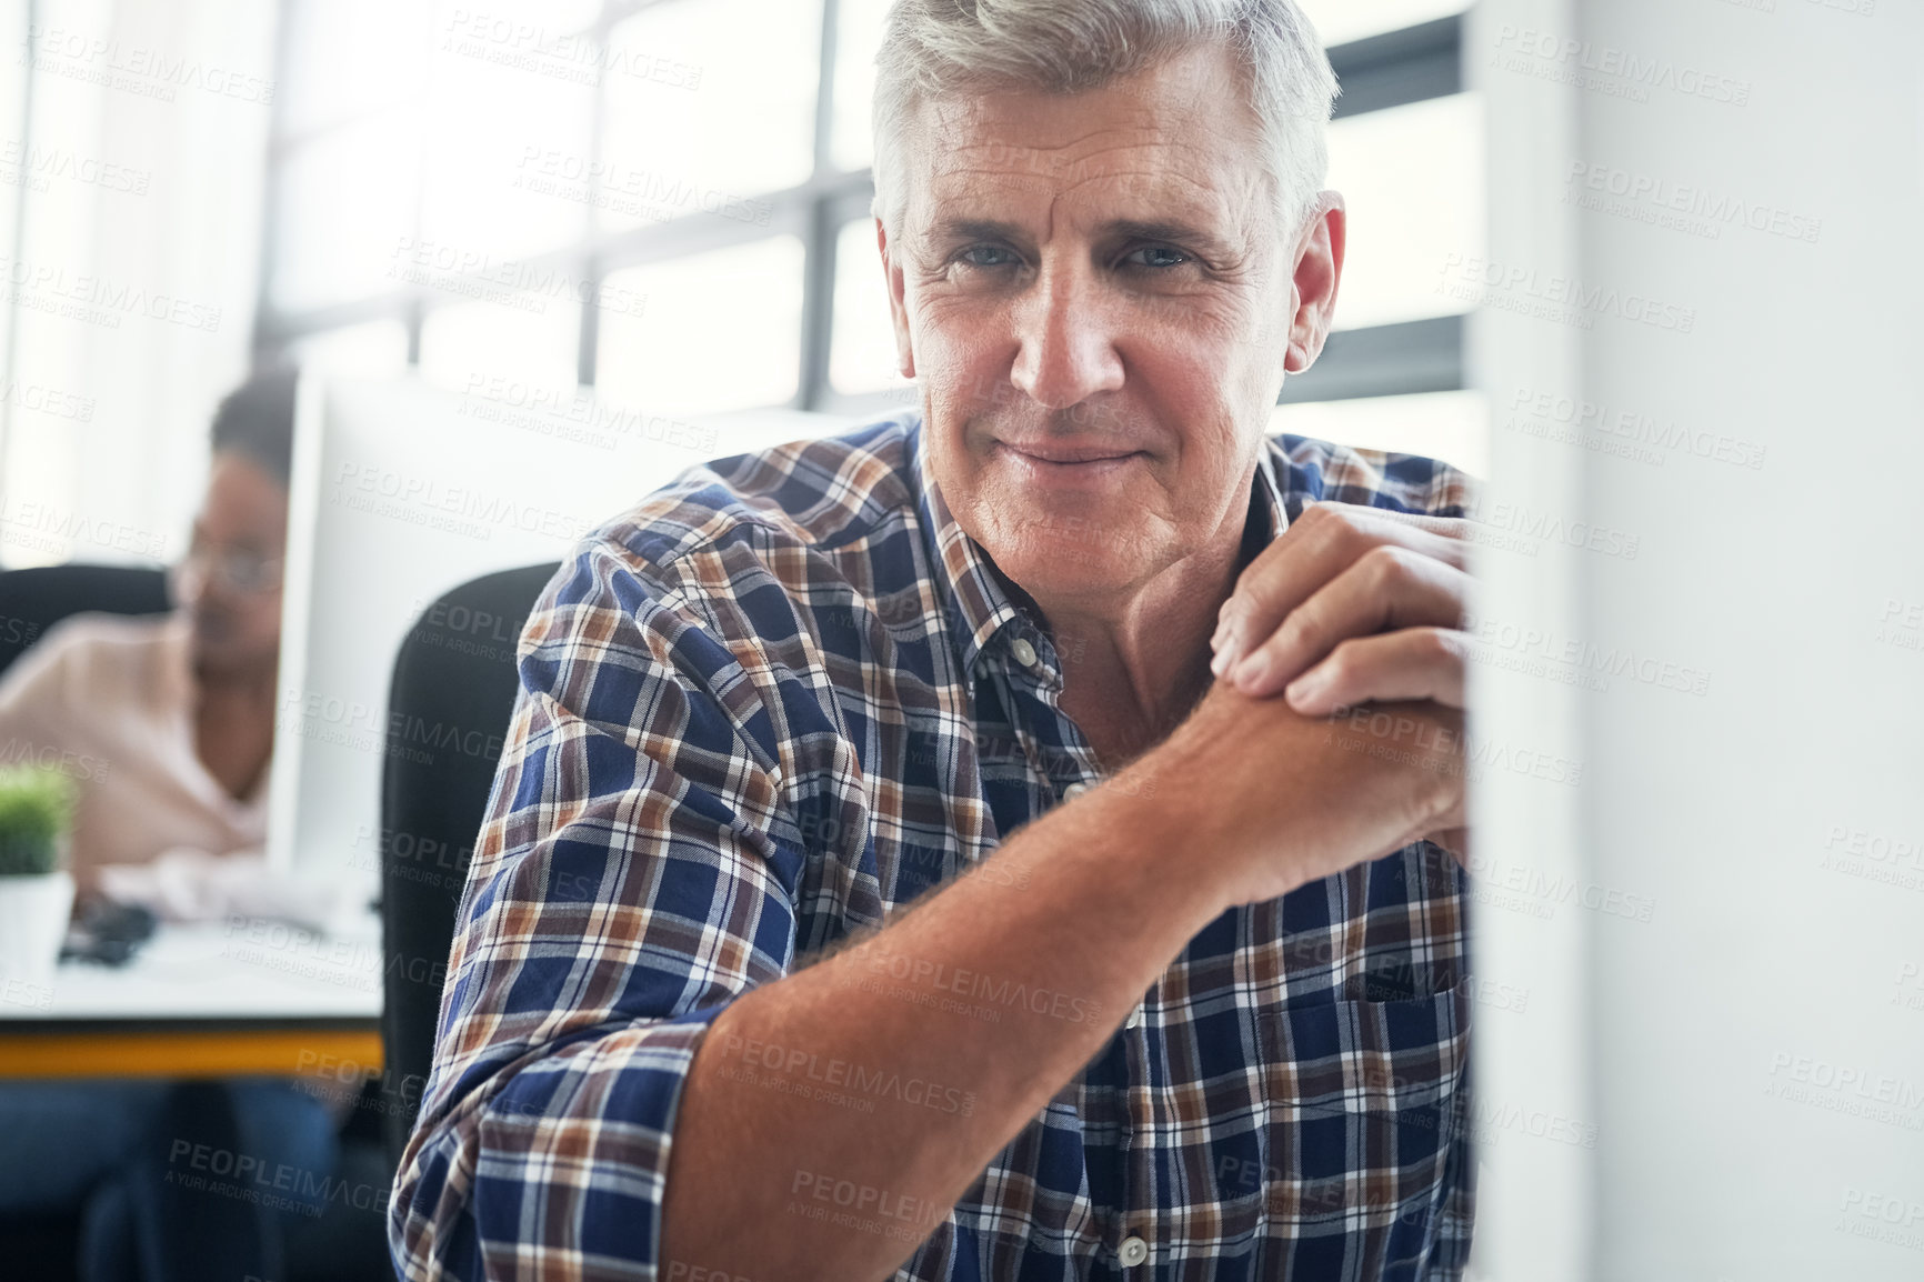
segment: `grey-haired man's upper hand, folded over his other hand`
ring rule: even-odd
[[[1464,706],[1470,522],[1318,502],[1237,577],[1210,670],[1312,718],[1397,699]],[[1468,830],[1428,833],[1456,859]]]

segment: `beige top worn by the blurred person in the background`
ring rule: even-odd
[[[73,614],[0,676],[0,766],[40,762],[81,783],[73,870],[144,864],[165,851],[260,851],[267,770],[237,801],[194,749],[194,676],[183,612]]]

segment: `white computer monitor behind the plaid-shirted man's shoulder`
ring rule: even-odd
[[[416,377],[304,377],[269,860],[373,889],[389,679],[402,637],[437,597],[564,558],[581,533],[704,460],[850,422],[798,410],[643,414],[508,381],[450,393]]]

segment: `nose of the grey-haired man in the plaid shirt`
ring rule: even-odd
[[[1058,262],[1016,302],[1010,381],[1051,410],[1122,387],[1114,316],[1091,269]]]

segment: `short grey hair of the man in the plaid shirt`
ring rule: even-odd
[[[1295,0],[897,0],[875,54],[873,216],[902,218],[902,135],[914,110],[970,89],[1074,94],[1220,42],[1262,123],[1278,225],[1293,231],[1329,171],[1335,71]]]

